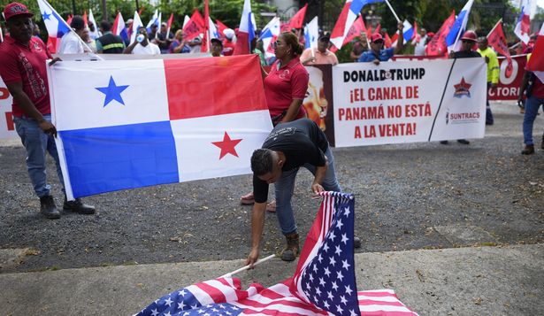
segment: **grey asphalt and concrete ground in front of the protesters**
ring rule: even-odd
[[[405,144],[334,151],[337,161],[343,163],[338,169],[345,187],[356,191],[356,201],[363,205],[356,219],[357,234],[364,241],[364,248],[356,251],[359,290],[395,289],[402,303],[420,315],[542,314],[544,151],[537,150],[533,157],[519,155],[521,116],[515,105],[494,104],[494,113],[495,126],[487,129],[484,140],[474,141],[469,148],[450,143],[449,147]],[[540,115],[534,127],[539,145],[543,127]],[[35,215],[37,204],[27,188],[22,163],[15,167],[4,164],[20,160],[18,141],[0,145],[7,146],[2,151],[4,157],[0,155],[4,166],[0,173],[4,193],[0,197],[4,206],[0,220],[0,314],[133,314],[174,289],[218,277],[243,264],[249,243],[245,239],[249,209],[234,208],[230,215],[225,205],[236,203],[245,178],[234,179],[237,188],[228,193],[227,201],[211,199],[203,203],[205,207],[188,197],[176,197],[175,187],[162,186],[90,198],[100,207],[96,218],[65,214],[61,220],[46,221]],[[444,159],[443,152],[450,158],[445,173],[434,167],[441,166],[435,161]],[[349,162],[362,155],[364,164],[357,170],[350,168]],[[381,166],[383,169],[378,169]],[[471,168],[481,173],[471,173]],[[482,179],[484,172],[487,180]],[[308,182],[306,178],[302,177],[300,187]],[[16,179],[21,180],[14,182]],[[218,189],[213,181],[191,185],[187,188],[196,187],[189,191],[193,196]],[[185,188],[183,183],[180,186]],[[156,194],[157,199],[147,197]],[[171,204],[168,197],[172,194],[178,200]],[[301,195],[297,193],[298,200],[303,200]],[[144,204],[134,207],[132,200]],[[126,208],[133,212],[120,212],[112,201],[129,204]],[[196,197],[195,201],[200,200]],[[237,220],[242,231],[228,231],[237,234],[230,237],[210,236],[215,234],[212,227],[183,227],[185,230],[176,232],[179,238],[172,239],[165,235],[165,229],[172,227],[157,227],[150,231],[158,236],[151,238],[152,243],[134,248],[131,239],[136,244],[148,243],[149,237],[130,234],[134,229],[145,232],[145,225],[137,225],[142,219],[149,220],[149,214],[161,211],[153,204],[195,204],[195,209],[203,211],[196,215],[183,209],[184,214],[205,220],[210,217],[211,223],[218,224],[225,216],[225,222]],[[210,213],[208,208],[219,212]],[[297,214],[307,216],[303,213],[306,208],[315,205],[303,204]],[[164,214],[167,212],[172,210]],[[308,224],[297,221],[307,232]],[[122,223],[128,222],[134,228],[121,231],[125,228]],[[96,227],[88,227],[91,225]],[[271,244],[264,244],[266,253],[281,246],[281,241],[273,239],[275,226],[273,219],[267,220],[265,237]],[[82,237],[61,235],[80,227],[85,227]],[[119,240],[119,244],[105,247],[102,242],[88,241],[101,235],[110,243]],[[46,243],[51,239],[58,242]],[[216,241],[219,239],[222,243]],[[195,242],[199,242],[197,246]],[[273,259],[237,276],[242,287],[252,281],[270,286],[294,270],[294,263]]]

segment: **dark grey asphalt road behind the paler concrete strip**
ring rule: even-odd
[[[543,243],[544,150],[530,157],[519,154],[523,117],[514,104],[494,104],[494,113],[495,125],[487,127],[486,138],[472,140],[469,146],[455,142],[412,143],[333,150],[343,189],[356,195],[356,231],[363,240],[363,248],[358,250],[361,256],[369,252],[398,251],[387,252],[387,256],[395,256],[414,252],[410,250],[440,251],[435,249],[463,252],[464,248],[459,247],[475,245],[494,246],[482,248],[485,250],[501,250],[510,245],[536,244],[522,247],[531,252],[531,247]],[[537,118],[534,128],[539,139],[544,130],[543,117]],[[540,145],[540,141],[537,143]],[[251,189],[249,176],[88,197],[87,201],[98,208],[95,216],[64,213],[60,220],[44,220],[36,211],[39,202],[27,180],[24,150],[17,142],[2,144],[2,278],[41,271],[45,271],[43,275],[51,275],[62,273],[51,270],[69,268],[99,271],[96,267],[211,263],[244,258],[249,250],[250,208],[238,204],[240,195]],[[52,179],[60,204],[59,186],[54,176]],[[301,173],[295,189],[295,216],[301,235],[307,234],[318,206],[309,196],[310,181],[309,173]],[[274,215],[268,214],[264,254],[282,247],[276,226]],[[521,269],[531,264],[531,260],[540,259],[538,251],[522,260],[525,263],[520,263]],[[410,266],[410,261],[405,262]],[[515,266],[507,267],[517,271],[519,268]],[[528,275],[530,280],[540,280],[536,274]],[[394,283],[385,282],[379,288],[391,286],[401,293],[405,288],[396,279],[400,276],[392,274]],[[448,280],[455,278],[446,276]],[[518,274],[509,277],[512,289],[518,289],[526,281]],[[32,282],[22,284],[32,289]],[[541,281],[535,283],[534,290],[541,293],[541,284]],[[402,292],[402,300],[405,294]],[[447,294],[444,292],[442,301],[433,308],[442,302],[447,306]],[[405,303],[411,302],[416,301]],[[532,306],[531,311],[540,311],[542,304]],[[433,311],[425,309],[423,304],[413,307],[418,312]],[[497,311],[489,314],[516,314]],[[526,314],[525,310],[516,311]],[[454,314],[465,313],[454,311]]]

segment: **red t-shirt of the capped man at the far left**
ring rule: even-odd
[[[52,58],[42,40],[34,37],[28,47],[6,36],[0,45],[0,76],[6,84],[22,82],[23,91],[38,112],[50,114],[49,85],[45,60]],[[13,115],[21,117],[24,112],[13,99]]]

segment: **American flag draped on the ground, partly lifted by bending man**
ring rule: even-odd
[[[231,277],[203,281],[157,299],[136,315],[417,315],[392,289],[356,290],[354,197],[338,192],[321,196],[292,278],[267,289],[254,283],[247,290]]]

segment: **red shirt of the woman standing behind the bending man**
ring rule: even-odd
[[[270,116],[280,115],[289,108],[294,99],[304,99],[308,90],[310,74],[306,71],[299,58],[293,58],[287,66],[278,69],[276,60],[268,76],[264,78],[264,96]],[[296,119],[306,116],[306,110],[301,106]]]

